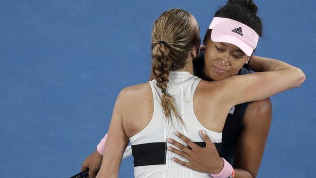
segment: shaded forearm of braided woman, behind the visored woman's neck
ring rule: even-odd
[[[279,71],[288,68],[295,68],[285,62],[282,62],[277,59],[260,57],[260,56],[251,56],[249,61],[249,70],[251,71]]]

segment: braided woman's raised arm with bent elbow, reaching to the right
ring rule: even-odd
[[[215,81],[218,94],[223,98],[223,106],[228,107],[227,104],[230,104],[230,108],[240,103],[263,100],[281,91],[299,87],[305,80],[305,74],[300,69],[279,60],[264,62],[264,69],[268,71]]]

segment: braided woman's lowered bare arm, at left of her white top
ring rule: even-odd
[[[113,109],[112,120],[105,142],[105,152],[97,178],[118,178],[123,153],[129,142],[123,129],[122,91]]]

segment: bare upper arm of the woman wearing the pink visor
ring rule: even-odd
[[[243,120],[234,156],[235,178],[256,178],[272,120],[270,99],[250,103]]]

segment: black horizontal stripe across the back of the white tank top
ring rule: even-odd
[[[205,142],[194,142],[205,147]],[[221,143],[214,143],[217,152],[220,154]],[[190,148],[190,146],[188,146]],[[191,148],[190,148],[191,149]],[[166,164],[167,142],[152,142],[132,145],[134,167]]]

